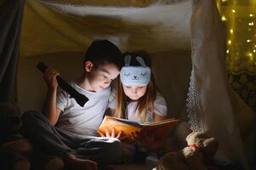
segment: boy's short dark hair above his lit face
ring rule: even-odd
[[[96,67],[105,62],[117,65],[121,70],[123,66],[122,52],[108,40],[96,40],[88,47],[83,63],[91,61]]]

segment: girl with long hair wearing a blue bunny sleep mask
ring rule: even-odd
[[[126,53],[124,61],[125,65],[120,72],[117,90],[112,91],[109,99],[110,115],[139,123],[158,122],[165,119],[167,105],[162,95],[157,92],[147,54]],[[140,133],[134,133],[129,139],[130,141],[131,139],[139,140],[139,144],[142,144],[146,151],[159,150],[163,144],[161,132],[149,134],[140,131]]]

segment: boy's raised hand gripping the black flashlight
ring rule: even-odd
[[[60,76],[60,73],[56,71],[54,68],[48,67],[43,74],[44,81],[48,84],[49,88],[57,88],[58,82],[56,77]]]

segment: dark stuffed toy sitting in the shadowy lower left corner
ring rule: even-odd
[[[20,134],[21,124],[19,107],[13,103],[1,102],[0,167],[3,170],[29,170],[33,168],[33,164],[37,164],[31,163],[31,160],[35,160],[33,157],[38,154],[33,150],[30,141]],[[43,169],[58,170],[64,167],[63,161],[58,157],[45,160]]]

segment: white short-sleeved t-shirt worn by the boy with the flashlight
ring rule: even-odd
[[[56,105],[61,113],[56,127],[71,133],[94,136],[105,114],[111,88],[105,88],[100,92],[90,92],[79,87],[75,82],[70,82],[70,85],[77,92],[88,97],[88,102],[81,107],[75,99],[70,98],[69,94],[59,88]]]

